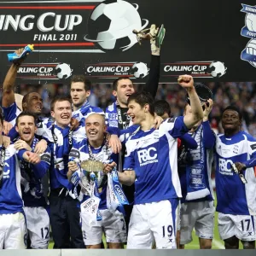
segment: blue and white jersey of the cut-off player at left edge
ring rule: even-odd
[[[24,152],[26,152],[24,149],[17,151],[14,144],[5,149],[3,184],[0,189],[0,214],[23,212],[19,160],[22,159]]]

